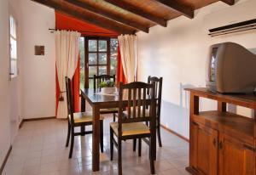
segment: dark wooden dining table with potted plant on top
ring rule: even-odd
[[[119,107],[119,95],[104,94],[99,89],[81,88],[81,111],[85,111],[85,101],[92,107],[92,171],[100,170],[100,110]],[[81,128],[83,130],[83,128]],[[154,146],[152,148],[154,160],[156,158],[156,137],[152,138]]]

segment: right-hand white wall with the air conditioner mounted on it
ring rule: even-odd
[[[254,1],[241,0],[237,4]],[[149,75],[163,76],[161,122],[186,138],[189,138],[189,94],[183,88],[206,86],[209,46],[229,41],[246,48],[256,48],[256,32],[230,37],[207,36],[204,17],[221,8],[234,7],[222,2],[213,3],[196,10],[193,20],[181,16],[170,20],[166,28],[156,25],[150,28],[149,34],[138,33],[138,78],[146,81]],[[233,15],[240,14],[233,12]],[[213,110],[217,103],[204,100],[201,106],[201,110]],[[250,116],[251,111],[239,107],[237,112]]]

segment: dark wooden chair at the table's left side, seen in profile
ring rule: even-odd
[[[69,158],[73,155],[73,141],[75,136],[91,134],[92,131],[85,131],[85,126],[92,125],[92,112],[78,112],[73,111],[73,94],[71,88],[71,81],[66,76],[66,90],[67,90],[67,114],[68,114],[68,130],[67,130],[67,143],[69,144],[69,139],[71,137],[71,145],[69,150]],[[84,127],[84,132],[75,133],[75,127]],[[103,152],[103,118],[100,119],[100,145],[101,151]]]

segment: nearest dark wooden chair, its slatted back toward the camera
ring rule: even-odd
[[[153,93],[147,95],[147,91]],[[125,91],[125,93],[124,93]],[[132,92],[132,94],[131,94]],[[128,94],[127,94],[128,93]],[[123,116],[125,107],[128,106],[127,116]],[[146,116],[146,108],[149,106],[149,116]],[[138,110],[136,110],[138,109]],[[122,140],[149,138],[150,170],[154,174],[154,138],[156,99],[154,98],[154,84],[145,82],[131,82],[119,85],[119,115],[118,122],[110,123],[110,159],[113,160],[113,144],[118,149],[119,175],[122,174]],[[137,114],[136,114],[137,112]],[[145,124],[149,122],[149,127]],[[116,136],[117,141],[113,138]]]

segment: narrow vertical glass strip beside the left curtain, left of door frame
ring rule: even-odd
[[[84,88],[84,37],[80,37],[79,51],[80,51],[80,88]]]

